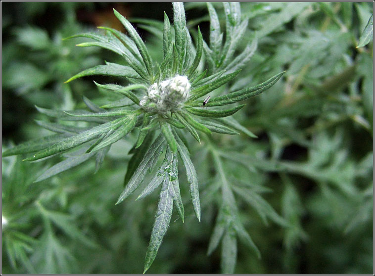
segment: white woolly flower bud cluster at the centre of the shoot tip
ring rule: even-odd
[[[177,75],[161,83],[152,84],[140,106],[150,112],[176,112],[190,95],[190,83],[186,76]]]

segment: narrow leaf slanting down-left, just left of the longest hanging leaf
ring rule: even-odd
[[[165,139],[163,135],[159,135],[159,137],[156,138],[156,140],[152,143],[150,148],[147,150],[140,165],[138,166],[137,170],[134,172],[132,178],[129,180],[124,191],[121,193],[120,197],[118,198],[116,204],[119,204],[125,198],[127,198],[131,193],[133,193],[143,181],[146,173],[148,171],[153,170],[153,167],[155,166],[156,161],[159,159],[160,154],[163,152],[162,148],[163,148],[164,143],[165,143]]]

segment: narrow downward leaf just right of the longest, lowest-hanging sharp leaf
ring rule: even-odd
[[[177,150],[180,154],[182,162],[184,163],[184,167],[186,170],[187,175],[187,182],[189,183],[189,190],[190,190],[190,197],[191,203],[193,205],[193,209],[195,215],[200,222],[200,200],[199,200],[199,189],[198,189],[198,179],[196,177],[196,172],[193,163],[190,160],[190,154],[187,150],[187,147],[183,143],[183,141],[175,134],[175,138],[177,141]]]

